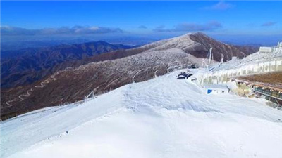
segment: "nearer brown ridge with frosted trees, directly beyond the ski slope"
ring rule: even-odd
[[[27,88],[18,87],[13,91],[7,91],[14,96],[1,96],[2,103],[6,103],[1,105],[1,114],[21,114],[27,110],[73,103],[84,99],[92,91],[95,94],[105,93],[130,84],[133,77],[135,82],[146,81],[152,79],[155,72],[159,76],[201,62],[202,59],[195,58],[178,48],[145,51],[116,60],[92,62],[57,72]]]

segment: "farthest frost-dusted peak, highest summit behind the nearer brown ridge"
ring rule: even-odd
[[[230,60],[233,56],[243,58],[246,55],[255,53],[257,48],[245,49],[244,46],[233,46],[230,44],[223,44],[220,41],[216,41],[206,34],[201,32],[188,33],[180,37],[174,37],[171,39],[165,39],[161,41],[153,42],[140,47],[147,51],[160,51],[169,48],[179,48],[185,53],[190,53],[197,58],[206,58],[209,48],[213,48],[214,60],[220,61],[221,55],[224,56],[224,60]]]

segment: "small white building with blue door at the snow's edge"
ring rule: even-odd
[[[204,93],[207,94],[229,93],[229,88],[224,84],[204,84]]]

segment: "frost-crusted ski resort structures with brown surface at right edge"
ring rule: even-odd
[[[209,60],[211,56],[212,49]],[[209,62],[206,71],[197,73],[197,84],[205,93],[231,90],[240,96],[265,98],[282,109],[282,42],[273,47],[260,47],[257,53],[243,59],[233,57],[212,66]],[[223,90],[225,88],[228,91]]]

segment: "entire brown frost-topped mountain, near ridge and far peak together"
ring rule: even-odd
[[[253,53],[196,33],[66,62],[64,67],[68,65],[71,68],[27,86],[1,91],[1,119],[42,107],[72,103],[82,100],[92,91],[95,94],[105,93],[133,80],[152,79],[155,73],[161,75],[190,65],[199,66],[210,47],[214,48],[217,61],[221,53],[227,60],[233,55],[243,58]]]

